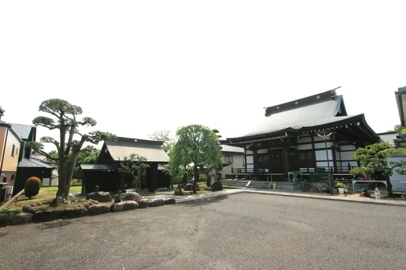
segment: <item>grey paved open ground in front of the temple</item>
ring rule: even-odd
[[[2,269],[405,269],[404,207],[261,194],[0,229]]]

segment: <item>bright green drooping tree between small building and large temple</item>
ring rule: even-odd
[[[173,177],[183,177],[189,166],[193,166],[193,194],[199,181],[200,168],[220,168],[221,151],[219,137],[207,127],[190,125],[178,129],[177,141],[170,152],[168,172]]]

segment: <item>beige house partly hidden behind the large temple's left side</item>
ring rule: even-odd
[[[221,147],[221,158],[223,162],[230,164],[226,167],[223,167],[223,169],[219,172],[219,174],[221,173],[221,179],[225,179],[229,178],[232,167],[245,167],[244,148],[229,145],[221,145]]]

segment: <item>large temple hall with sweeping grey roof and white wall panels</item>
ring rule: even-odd
[[[319,136],[328,134],[326,142]],[[232,174],[287,181],[294,171],[349,177],[356,148],[380,141],[364,115],[348,115],[343,96],[331,90],[267,107],[256,128],[222,143],[245,149],[245,166]]]

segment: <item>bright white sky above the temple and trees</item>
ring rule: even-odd
[[[62,98],[97,129],[147,138],[203,124],[240,135],[262,107],[342,86],[385,132],[406,86],[405,1],[2,1],[2,120]],[[38,136],[57,135],[38,128]],[[47,147],[52,149],[52,147]]]

